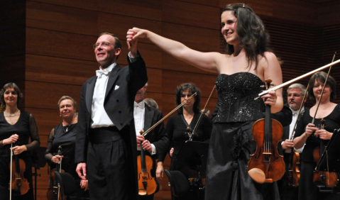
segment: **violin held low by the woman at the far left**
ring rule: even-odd
[[[18,155],[14,155],[15,162],[13,162],[12,156],[13,151],[11,151],[11,164],[9,165],[11,171],[11,182],[9,183],[10,193],[23,195],[26,194],[30,189],[27,179],[23,177],[23,173],[26,169],[26,164],[23,160],[19,159]]]

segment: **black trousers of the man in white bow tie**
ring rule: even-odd
[[[89,134],[87,176],[90,199],[136,199],[130,127],[94,128]]]

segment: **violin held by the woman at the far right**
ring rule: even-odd
[[[324,129],[324,123],[326,120],[322,118],[320,126],[320,129]],[[322,141],[321,141],[322,143]],[[326,146],[324,147],[326,149]],[[327,153],[327,152],[326,152]],[[322,155],[322,148],[317,147],[313,151],[313,158],[314,162],[317,162],[317,165],[319,165],[319,161]],[[329,172],[329,171],[319,171],[315,170],[313,172],[313,182],[321,182],[324,187],[336,187],[336,184],[338,184],[338,176],[336,172]]]

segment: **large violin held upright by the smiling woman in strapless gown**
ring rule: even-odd
[[[267,90],[272,80],[265,79]],[[256,152],[248,162],[248,174],[258,183],[278,181],[285,174],[283,155],[278,153],[283,126],[270,118],[270,105],[265,105],[265,118],[253,124],[253,140],[256,141]]]

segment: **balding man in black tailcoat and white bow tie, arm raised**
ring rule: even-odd
[[[100,34],[94,54],[101,66],[82,85],[75,162],[79,177],[89,180],[90,199],[138,199],[133,101],[148,76],[137,40],[128,49],[128,66],[120,67],[119,39]]]

